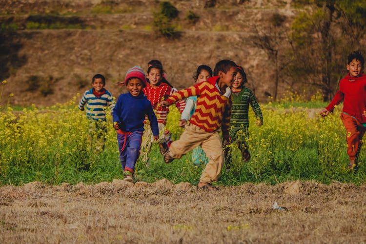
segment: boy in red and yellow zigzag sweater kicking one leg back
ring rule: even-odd
[[[237,72],[237,65],[231,60],[219,61],[214,77],[189,88],[173,93],[162,105],[170,105],[190,96],[198,96],[196,110],[185,125],[181,138],[172,142],[164,155],[165,163],[180,159],[184,154],[201,145],[209,162],[201,175],[199,188],[216,190],[212,182],[219,179],[224,163],[224,152],[220,132],[225,141],[229,139],[231,116],[230,86]]]

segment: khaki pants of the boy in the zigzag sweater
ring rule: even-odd
[[[187,124],[184,127],[181,138],[170,145],[169,155],[172,158],[180,159],[184,154],[201,145],[209,159],[204,168],[200,183],[217,181],[224,163],[224,152],[219,132],[207,132],[194,124]]]

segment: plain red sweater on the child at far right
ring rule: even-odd
[[[339,90],[326,107],[333,111],[334,106],[343,102],[343,112],[355,117],[359,122],[366,123],[366,75],[344,77],[339,83]]]

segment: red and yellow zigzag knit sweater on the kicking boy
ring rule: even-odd
[[[175,92],[166,101],[172,104],[183,98],[197,96],[196,110],[189,122],[207,132],[221,127],[223,136],[226,136],[230,126],[231,99],[220,93],[216,86],[218,79],[218,76],[211,77],[207,81]]]

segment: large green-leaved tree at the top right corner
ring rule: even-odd
[[[317,87],[330,100],[346,73],[346,56],[365,49],[366,3],[352,0],[294,0],[309,4],[291,26],[292,55],[286,67],[293,80]]]

